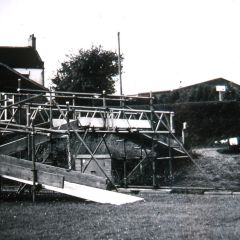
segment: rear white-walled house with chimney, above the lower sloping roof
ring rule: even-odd
[[[41,86],[44,86],[44,62],[36,49],[36,38],[33,34],[30,35],[26,47],[0,47],[0,63],[2,69],[12,69],[10,75],[13,73],[18,75],[18,72],[21,74],[20,77],[24,77],[25,80],[27,78],[29,81],[36,82],[40,89]],[[2,72],[0,72],[0,87],[3,85],[2,81],[6,81],[6,79],[3,80],[3,77],[6,77],[6,75],[2,76]],[[32,86],[32,83],[30,83],[30,86]]]

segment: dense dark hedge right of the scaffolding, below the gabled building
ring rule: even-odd
[[[171,106],[175,112],[177,134],[187,122],[186,137],[189,147],[209,145],[215,140],[240,136],[240,103],[198,102]]]

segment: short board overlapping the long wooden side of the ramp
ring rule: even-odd
[[[54,173],[37,171],[37,182],[39,184],[46,184],[53,187],[63,188],[64,176]]]

